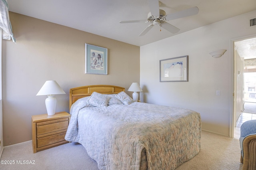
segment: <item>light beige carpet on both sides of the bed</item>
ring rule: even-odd
[[[4,147],[0,169],[98,170],[98,167],[81,144],[67,143],[33,154],[32,141],[28,141]],[[242,170],[239,140],[202,131],[200,152],[176,170]]]

